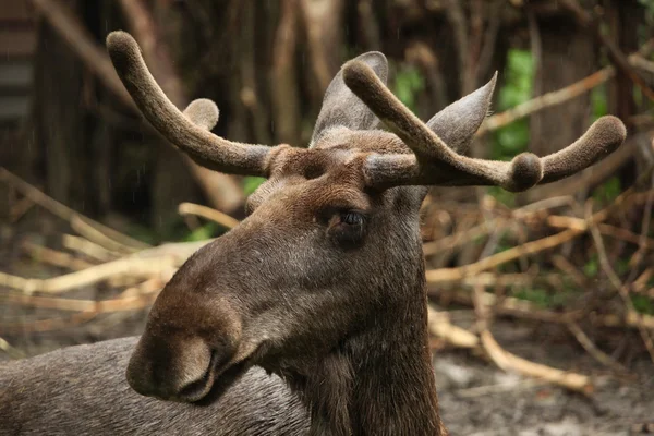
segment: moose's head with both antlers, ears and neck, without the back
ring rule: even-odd
[[[308,148],[235,143],[209,132],[211,101],[183,113],[169,101],[130,35],[114,32],[107,46],[134,101],[171,143],[216,171],[267,178],[247,217],[189,258],[152,308],[128,379],[167,400],[210,398],[259,365],[287,379],[314,419],[365,427],[375,407],[361,399],[390,395],[393,409],[378,405],[388,408],[379,414],[429,408],[425,425],[438,428],[419,231],[427,186],[524,191],[583,170],[626,136],[620,120],[604,117],[543,158],[467,157],[496,77],[424,123],[386,87],[386,58],[368,52],[329,85]],[[402,393],[396,378],[426,395]]]

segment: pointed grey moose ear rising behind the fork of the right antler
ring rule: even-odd
[[[472,137],[491,109],[497,72],[486,85],[436,113],[427,126],[459,155],[468,154]]]

